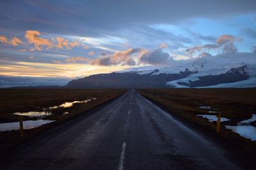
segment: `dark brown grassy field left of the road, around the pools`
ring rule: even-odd
[[[0,132],[0,152],[10,150],[20,145],[32,136],[36,136],[47,129],[67,122],[78,115],[87,114],[89,110],[115,99],[127,92],[126,89],[0,89],[0,123],[19,122],[20,115],[15,112],[35,111],[36,108],[49,108],[60,106],[65,102],[84,101],[93,99],[88,103],[75,103],[68,108],[52,110],[51,115],[43,117],[22,116],[22,120],[55,120],[34,129],[24,129],[24,137],[20,138],[19,131]],[[64,113],[67,114],[64,114]]]

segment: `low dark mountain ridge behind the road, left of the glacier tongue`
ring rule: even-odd
[[[173,74],[154,74],[159,69],[154,69],[150,73],[130,71],[126,73],[95,74],[78,80],[70,81],[67,88],[164,88],[168,87],[166,82],[186,78],[190,74],[198,71],[185,69]]]

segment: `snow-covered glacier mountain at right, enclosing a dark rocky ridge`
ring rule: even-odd
[[[186,66],[194,67],[198,74],[169,81],[168,85],[183,88],[256,87],[256,57],[254,55],[246,55],[246,53],[225,55],[225,57],[216,55],[197,58],[189,62]],[[205,82],[202,83],[203,81]]]

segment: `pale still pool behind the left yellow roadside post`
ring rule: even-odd
[[[26,120],[23,121],[23,129],[33,129],[39,127],[44,124],[49,124],[54,122],[55,120]],[[20,129],[20,122],[10,122],[10,123],[1,123],[0,124],[0,131],[12,131],[12,130],[19,130]]]

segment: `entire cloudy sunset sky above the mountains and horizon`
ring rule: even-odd
[[[256,53],[255,0],[1,0],[0,76],[78,78]]]

